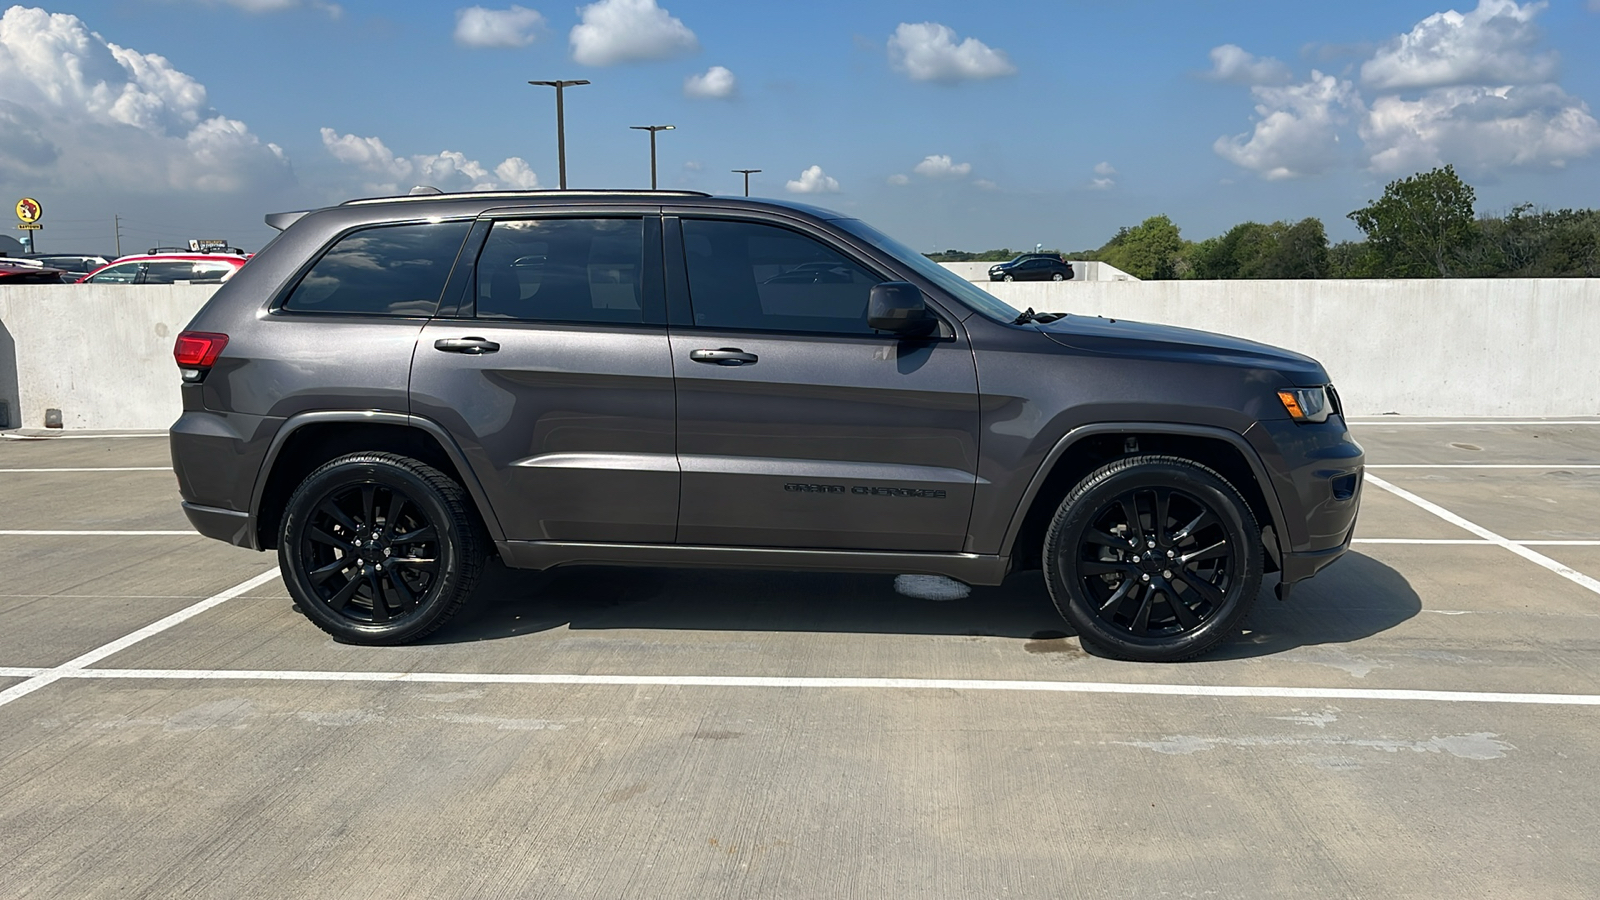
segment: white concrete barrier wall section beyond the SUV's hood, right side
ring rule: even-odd
[[[1162,322],[1317,357],[1350,415],[1600,415],[1600,279],[998,283],[1040,312]]]

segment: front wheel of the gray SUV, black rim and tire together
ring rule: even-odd
[[[1086,649],[1166,663],[1238,633],[1261,589],[1256,519],[1218,472],[1178,456],[1101,466],[1061,501],[1045,583]]]

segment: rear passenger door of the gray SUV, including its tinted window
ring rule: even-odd
[[[504,213],[478,229],[459,309],[418,341],[413,415],[456,436],[507,540],[672,543],[659,213]]]

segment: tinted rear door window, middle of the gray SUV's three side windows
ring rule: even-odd
[[[643,323],[638,218],[514,219],[490,229],[477,267],[477,317]]]

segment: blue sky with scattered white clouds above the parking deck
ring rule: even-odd
[[[1346,215],[1451,163],[1600,207],[1600,0],[58,0],[0,11],[0,199],[40,250],[226,239],[354,197],[750,192],[920,250]],[[21,235],[6,231],[5,234]]]

